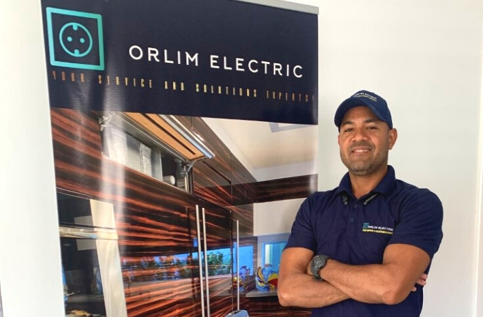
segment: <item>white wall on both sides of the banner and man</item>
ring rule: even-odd
[[[483,1],[296,2],[319,7],[319,189],[345,172],[335,108],[357,90],[377,92],[399,131],[397,177],[444,205],[423,316],[483,316]],[[2,1],[0,14],[3,314],[63,317],[40,1]]]

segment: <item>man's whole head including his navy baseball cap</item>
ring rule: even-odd
[[[397,131],[384,99],[361,90],[339,105],[334,122],[339,128],[340,156],[351,174],[386,171]]]

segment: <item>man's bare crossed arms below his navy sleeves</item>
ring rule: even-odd
[[[346,265],[330,259],[319,274],[307,273],[313,252],[302,247],[284,250],[279,269],[278,296],[284,306],[323,307],[353,298],[363,303],[394,305],[402,302],[414,285],[426,284],[423,274],[430,258],[413,245],[388,245],[382,264]]]

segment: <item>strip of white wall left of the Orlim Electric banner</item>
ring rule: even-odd
[[[63,317],[40,1],[0,10],[0,283],[3,317]]]

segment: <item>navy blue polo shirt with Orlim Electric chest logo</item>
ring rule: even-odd
[[[349,265],[382,263],[384,249],[404,243],[423,249],[432,259],[442,241],[443,208],[439,198],[395,178],[393,167],[375,189],[356,199],[348,173],[339,187],[315,192],[300,206],[288,247],[304,247]],[[426,269],[428,272],[429,267]],[[420,316],[423,291],[400,304],[366,304],[348,299],[313,309],[312,316]]]

